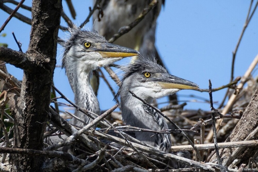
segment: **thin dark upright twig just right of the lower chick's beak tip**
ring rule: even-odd
[[[211,80],[209,80],[209,98],[211,103],[211,118],[212,118],[212,131],[213,131],[213,140],[214,140],[214,147],[217,155],[217,161],[220,166],[222,166],[222,161],[220,159],[220,153],[218,148],[218,142],[217,142],[217,135],[216,135],[216,127],[215,127],[215,110],[213,107],[213,100],[212,100],[212,85]],[[225,168],[220,167],[221,171],[225,171]]]

